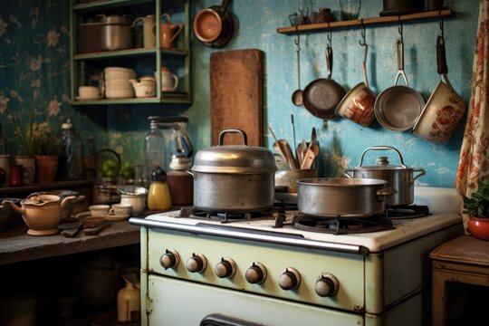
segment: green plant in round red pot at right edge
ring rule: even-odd
[[[479,182],[471,197],[464,196],[464,213],[469,216],[471,235],[489,241],[489,179]]]

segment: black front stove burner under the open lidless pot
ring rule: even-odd
[[[366,218],[317,218],[298,215],[295,216],[293,226],[302,231],[333,235],[379,232],[394,228],[390,219],[383,216]]]

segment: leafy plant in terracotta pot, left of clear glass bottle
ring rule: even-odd
[[[37,182],[53,182],[62,154],[62,139],[53,134],[47,122],[34,123],[34,153]]]

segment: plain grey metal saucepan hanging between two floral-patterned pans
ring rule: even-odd
[[[395,85],[382,91],[374,105],[375,117],[386,129],[405,131],[413,128],[423,107],[425,100],[415,90],[409,87],[408,78],[404,72],[404,43],[396,43],[396,59],[398,61],[398,74]],[[402,76],[406,86],[398,85]]]

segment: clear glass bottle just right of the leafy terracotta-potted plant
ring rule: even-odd
[[[82,138],[70,119],[62,124],[62,144],[61,177],[69,180],[82,179]]]

